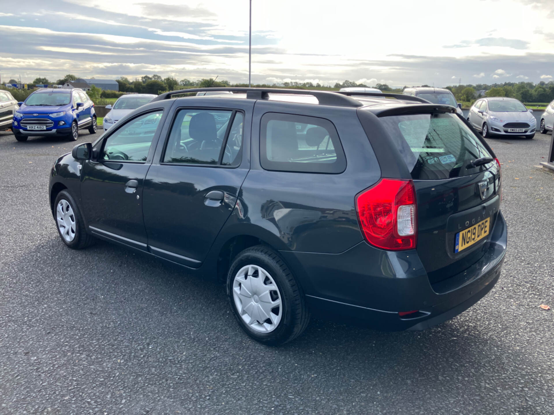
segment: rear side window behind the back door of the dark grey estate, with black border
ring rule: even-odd
[[[261,117],[260,163],[285,172],[342,173],[346,168],[331,121],[276,112]]]

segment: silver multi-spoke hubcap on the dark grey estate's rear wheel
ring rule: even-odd
[[[240,268],[233,281],[233,299],[244,323],[255,331],[268,333],[279,325],[283,315],[281,293],[264,268]]]

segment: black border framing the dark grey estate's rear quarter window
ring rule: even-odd
[[[271,120],[268,120],[266,116],[273,116],[274,118],[271,118]],[[264,120],[265,118],[265,120]],[[294,118],[296,118],[296,121],[293,121]],[[302,122],[297,121],[299,118],[309,118],[310,120],[316,120],[315,122]],[[298,122],[302,124],[310,124],[310,125],[316,125],[319,127],[323,127],[327,130],[327,132],[330,133],[330,139],[333,143],[333,147],[335,148],[335,153],[337,156],[335,163],[294,163],[294,162],[273,162],[267,158],[267,149],[266,149],[266,142],[267,142],[267,125],[268,121],[291,121],[291,122]],[[319,122],[319,124],[317,123]],[[331,131],[330,128],[326,128],[323,124],[326,124],[327,127],[332,127]],[[336,138],[337,143],[335,143],[334,137]],[[338,145],[337,145],[338,144]],[[347,162],[346,162],[346,155],[344,152],[344,149],[342,148],[342,142],[340,137],[338,136],[337,128],[335,124],[331,120],[327,120],[327,118],[322,117],[315,117],[313,115],[302,115],[302,114],[291,114],[291,113],[285,113],[285,112],[274,112],[274,111],[268,111],[264,113],[264,115],[260,118],[260,165],[261,168],[264,170],[269,170],[271,172],[291,172],[291,173],[308,173],[308,174],[342,174],[346,170]],[[335,169],[333,167],[337,166]],[[335,171],[330,171],[335,170]]]

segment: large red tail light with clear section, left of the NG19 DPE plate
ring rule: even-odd
[[[381,179],[356,196],[356,212],[367,242],[385,250],[416,247],[416,189],[412,180]]]

